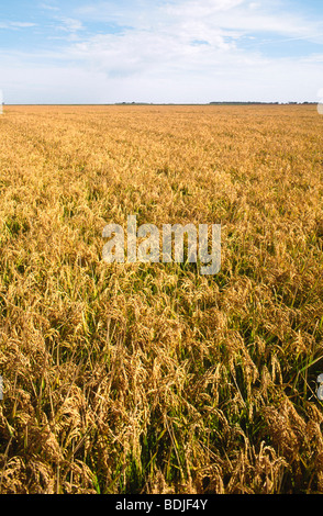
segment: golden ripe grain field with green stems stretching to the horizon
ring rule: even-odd
[[[7,106],[0,493],[323,493],[314,105]],[[102,229],[221,224],[222,263]]]

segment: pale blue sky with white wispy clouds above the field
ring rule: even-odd
[[[7,103],[318,101],[322,0],[0,0]]]

